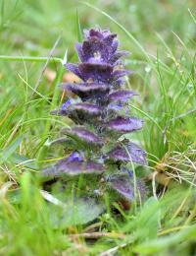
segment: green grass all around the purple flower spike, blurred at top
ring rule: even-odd
[[[47,145],[71,125],[50,115],[61,104],[62,60],[68,49],[76,61],[80,31],[96,25],[118,32],[131,52],[127,86],[140,96],[130,107],[145,120],[131,139],[147,151],[149,167],[135,169],[148,188],[141,204],[117,215],[106,196],[107,211],[90,222],[85,204],[67,218],[61,207],[73,207],[69,197],[84,177],[65,190],[57,182],[52,197],[41,192],[38,173],[64,156]],[[195,1],[0,0],[0,45],[0,255],[195,255]],[[52,82],[45,68],[56,73]],[[103,237],[75,237],[92,224]]]

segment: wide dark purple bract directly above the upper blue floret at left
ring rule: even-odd
[[[72,92],[82,99],[105,96],[110,91],[108,85],[97,83],[63,84],[63,89]]]

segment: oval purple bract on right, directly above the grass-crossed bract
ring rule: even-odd
[[[106,126],[121,133],[133,132],[142,128],[143,121],[136,117],[121,117],[118,116],[116,119],[109,121]]]

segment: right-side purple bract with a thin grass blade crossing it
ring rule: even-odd
[[[124,146],[117,146],[108,153],[112,160],[133,161],[141,165],[147,165],[146,153],[134,143],[126,143]]]

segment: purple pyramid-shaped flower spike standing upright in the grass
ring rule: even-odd
[[[130,116],[128,101],[137,94],[125,89],[122,57],[117,34],[100,29],[84,31],[84,41],[75,45],[79,63],[69,63],[80,83],[63,84],[69,98],[55,114],[74,122],[60,139],[73,153],[44,170],[45,175],[96,174],[110,189],[132,200],[132,171],[127,162],[145,165],[146,154],[136,144],[120,139],[123,134],[140,130],[143,121]],[[98,188],[99,189],[99,188]],[[141,188],[142,190],[142,188]]]

